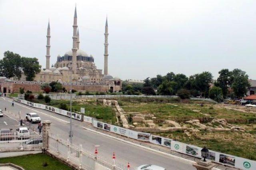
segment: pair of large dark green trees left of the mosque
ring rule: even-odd
[[[40,69],[41,65],[36,57],[21,57],[11,51],[5,51],[3,59],[0,60],[0,75],[8,79],[11,77],[20,79],[23,71],[26,81],[33,81]]]

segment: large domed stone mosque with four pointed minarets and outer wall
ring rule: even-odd
[[[104,73],[102,69],[97,69],[94,63],[94,57],[88,55],[85,51],[80,49],[80,38],[77,25],[77,13],[76,8],[74,12],[73,22],[73,46],[72,48],[64,53],[63,56],[58,55],[56,57],[56,63],[50,67],[50,22],[48,22],[47,28],[47,44],[46,44],[46,68],[41,69],[40,73],[36,74],[33,82],[27,82],[25,75],[22,73],[22,77],[17,80],[12,78],[11,80],[4,77],[0,78],[0,86],[2,93],[17,92],[18,85],[20,87],[30,87],[32,84],[42,84],[44,82],[58,81],[62,85],[70,84],[72,81],[74,85],[79,85],[78,89],[88,91],[120,91],[122,88],[122,81],[118,77],[112,77],[108,75],[108,19],[106,18],[105,24],[105,41],[104,41]],[[6,86],[8,84],[16,84]],[[30,85],[28,85],[30,84]],[[6,87],[4,87],[6,86]],[[25,87],[26,86],[26,87]],[[91,87],[95,86],[95,87]],[[74,87],[75,89],[76,87]],[[38,89],[38,88],[33,88]],[[66,88],[67,89],[67,88]]]

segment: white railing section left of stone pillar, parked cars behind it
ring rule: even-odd
[[[17,133],[0,134],[0,152],[42,150],[42,136],[34,132],[19,135]]]

